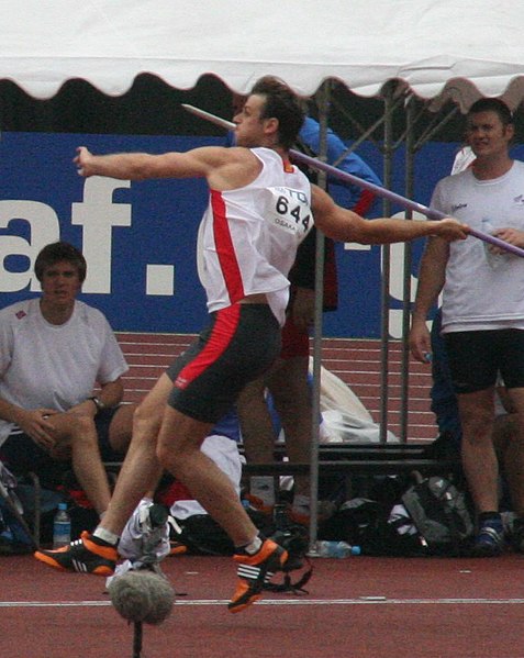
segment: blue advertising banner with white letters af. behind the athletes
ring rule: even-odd
[[[38,292],[34,258],[44,245],[65,239],[81,248],[88,263],[82,299],[103,311],[115,331],[197,332],[207,315],[196,264],[205,182],[83,179],[71,160],[79,145],[94,153],[163,153],[221,143],[213,137],[3,133],[0,305]],[[417,201],[428,204],[456,149],[456,144],[424,147],[416,161]],[[381,156],[371,145],[358,153],[376,171],[382,170]],[[403,193],[402,153],[395,157],[399,179],[393,189]],[[332,193],[344,203],[336,186]],[[415,244],[414,271],[421,250],[422,244]],[[392,247],[393,314],[401,306],[402,256],[402,245]],[[325,335],[380,335],[380,247],[337,245],[339,310],[325,314]]]

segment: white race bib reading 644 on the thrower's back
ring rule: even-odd
[[[304,192],[291,188],[268,189],[270,200],[267,219],[280,230],[302,239],[312,226],[311,207]]]

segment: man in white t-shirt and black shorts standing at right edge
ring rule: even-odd
[[[498,99],[473,103],[467,136],[476,156],[465,171],[441,180],[432,207],[524,247],[524,164],[510,157],[513,120]],[[431,353],[427,313],[441,290],[443,334],[462,427],[461,457],[478,511],[473,553],[497,556],[504,548],[498,503],[498,461],[492,442],[494,388],[500,371],[519,419],[513,488],[515,548],[524,551],[524,259],[468,238],[427,242],[410,335],[420,360]]]

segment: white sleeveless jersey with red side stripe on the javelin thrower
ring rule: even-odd
[[[269,148],[253,148],[263,169],[235,190],[211,190],[199,232],[199,276],[210,312],[266,293],[280,324],[289,297],[288,272],[313,225],[311,185]]]

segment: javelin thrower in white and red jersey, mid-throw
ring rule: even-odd
[[[133,438],[99,526],[60,550],[37,551],[41,561],[69,571],[114,569],[127,518],[165,469],[188,487],[235,546],[231,612],[259,599],[275,571],[286,571],[287,550],[259,534],[230,479],[200,447],[246,383],[280,353],[287,275],[312,218],[341,242],[389,244],[427,235],[456,241],[469,234],[453,219],[365,220],[337,205],[289,160],[303,119],[297,96],[282,82],[263,78],[235,116],[236,147],[104,156],[79,147],[75,164],[83,177],[205,178],[210,202],[200,231],[199,270],[210,317],[138,405]]]

